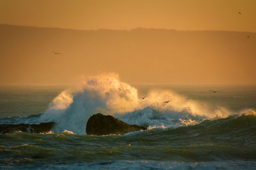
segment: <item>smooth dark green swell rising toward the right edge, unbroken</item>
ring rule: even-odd
[[[129,134],[127,134],[129,135]],[[204,120],[200,124],[177,128],[152,129],[133,134],[134,141],[161,146],[256,146],[255,115]]]

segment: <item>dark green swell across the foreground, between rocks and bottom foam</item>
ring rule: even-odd
[[[1,134],[0,162],[76,164],[94,160],[212,162],[256,161],[255,115],[204,120],[178,128],[155,128],[122,136]],[[63,154],[65,153],[65,154]],[[79,155],[79,157],[77,157]],[[7,159],[11,157],[10,159]]]

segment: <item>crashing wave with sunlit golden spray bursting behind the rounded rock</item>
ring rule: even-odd
[[[150,90],[141,99],[138,90],[120,81],[117,74],[100,74],[61,92],[40,115],[39,122],[55,122],[54,132],[86,134],[86,122],[95,113],[113,115],[128,124],[173,128],[231,115],[225,108],[210,110],[207,103],[186,99],[171,90]]]

